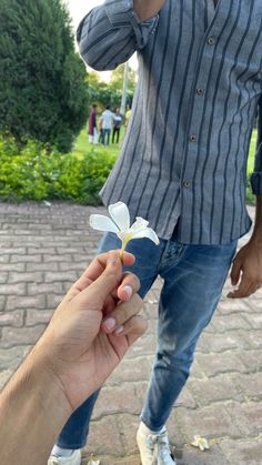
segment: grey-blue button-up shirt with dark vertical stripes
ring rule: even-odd
[[[262,107],[262,1],[167,0],[141,23],[130,0],[108,0],[78,30],[97,70],[134,51],[139,81],[121,154],[101,195],[125,202],[160,237],[221,244],[251,225],[246,160]],[[262,131],[251,183],[262,194]],[[177,225],[177,228],[175,228]]]

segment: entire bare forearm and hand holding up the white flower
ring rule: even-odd
[[[133,262],[125,253],[123,264]],[[122,274],[119,251],[99,255],[71,287],[0,396],[1,464],[47,464],[72,412],[144,332],[138,290],[138,279]]]

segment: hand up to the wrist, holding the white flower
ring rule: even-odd
[[[124,253],[123,264],[133,262],[134,256]],[[34,348],[40,368],[49,372],[72,411],[101,387],[145,331],[147,322],[137,315],[142,307],[139,287],[137,276],[122,274],[119,251],[99,255],[71,287]]]

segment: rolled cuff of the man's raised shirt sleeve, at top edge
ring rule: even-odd
[[[137,48],[142,49],[149,36],[155,31],[159,17],[141,22],[133,10],[133,0],[107,0],[105,11],[113,28],[130,27],[137,38]]]

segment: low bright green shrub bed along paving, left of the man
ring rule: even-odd
[[[0,199],[67,200],[99,204],[99,191],[105,182],[115,155],[93,148],[81,156],[51,153],[30,141],[19,152],[13,140],[0,140]]]

